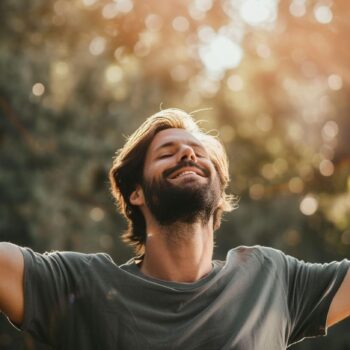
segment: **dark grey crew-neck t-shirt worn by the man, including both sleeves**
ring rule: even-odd
[[[21,329],[54,349],[281,350],[326,333],[348,260],[310,264],[261,246],[238,247],[194,283],[143,275],[106,254],[25,259]]]

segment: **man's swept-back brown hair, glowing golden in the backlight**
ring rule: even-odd
[[[212,135],[204,133],[190,114],[181,109],[162,110],[148,119],[128,138],[119,149],[109,172],[111,191],[118,209],[128,221],[128,229],[123,241],[132,245],[136,253],[143,253],[146,242],[146,222],[141,210],[130,203],[130,195],[136,185],[142,182],[143,167],[147,149],[154,136],[165,129],[185,129],[200,140],[206,147],[220,178],[221,201],[214,215],[214,229],[218,229],[224,211],[236,207],[234,196],[225,190],[229,182],[228,161],[222,144]]]

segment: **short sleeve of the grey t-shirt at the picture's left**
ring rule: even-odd
[[[52,344],[57,324],[79,290],[79,279],[89,266],[88,254],[39,254],[21,248],[24,257],[24,319],[21,329]]]

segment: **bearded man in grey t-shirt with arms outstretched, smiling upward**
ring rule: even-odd
[[[0,245],[0,307],[54,349],[268,349],[350,314],[350,262],[308,264],[266,247],[213,261],[226,155],[191,116],[163,110],[118,151],[112,193],[138,256]],[[252,218],[253,219],[253,218]]]

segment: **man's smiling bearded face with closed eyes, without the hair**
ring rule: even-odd
[[[142,189],[161,225],[207,222],[220,200],[219,178],[205,147],[183,129],[156,134],[147,150]]]

